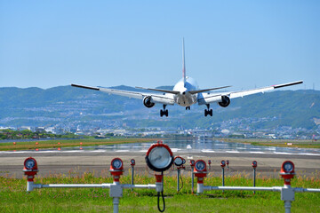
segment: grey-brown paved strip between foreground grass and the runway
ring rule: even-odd
[[[140,174],[153,175],[145,162],[145,152],[52,152],[52,153],[1,153],[0,154],[0,176],[2,177],[23,177],[23,162],[30,155],[36,158],[38,163],[38,176],[47,177],[54,174],[64,174],[67,176],[81,176],[84,172],[94,172],[96,177],[110,176],[110,162],[115,157],[120,157],[124,161],[124,174],[131,168],[130,160],[136,161],[135,172]],[[182,170],[182,175],[189,175],[190,157],[194,160],[203,159],[212,161],[210,170],[211,176],[220,176],[220,161],[229,160],[229,170],[226,176],[236,173],[243,173],[252,177],[252,161],[258,162],[257,174],[260,177],[279,177],[279,170],[282,163],[290,160],[295,164],[298,174],[307,177],[315,177],[316,170],[320,170],[320,156],[301,154],[248,154],[248,153],[174,153],[187,160],[186,170]],[[168,175],[176,175],[176,171],[168,170]],[[318,174],[319,175],[319,174]]]

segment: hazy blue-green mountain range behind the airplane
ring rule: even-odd
[[[140,91],[128,86],[118,90]],[[171,90],[172,86],[160,87]],[[161,105],[148,109],[139,99],[127,99],[71,86],[0,88],[0,126],[56,126],[60,128],[168,127],[214,128],[234,126],[272,129],[281,126],[316,129],[320,119],[320,91],[272,91],[232,99],[230,106],[213,106],[213,116],[204,117],[205,106],[168,106],[161,118]]]

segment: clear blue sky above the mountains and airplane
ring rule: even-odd
[[[0,1],[0,87],[320,90],[320,1]]]

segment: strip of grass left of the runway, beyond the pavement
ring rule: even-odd
[[[0,151],[8,150],[35,150],[37,149],[49,149],[49,148],[62,148],[70,146],[99,146],[99,145],[115,145],[126,143],[142,143],[156,141],[157,138],[109,138],[109,139],[57,139],[57,140],[40,140],[30,142],[13,142],[0,143]],[[36,142],[38,144],[36,144]]]

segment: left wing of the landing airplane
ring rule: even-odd
[[[94,90],[94,91],[103,91],[107,92],[108,94],[124,96],[132,99],[144,99],[145,97],[151,97],[152,102],[164,104],[164,105],[174,105],[174,99],[170,94],[156,94],[156,93],[148,93],[148,92],[140,92],[140,91],[122,91],[122,90],[115,90],[115,89],[108,89],[108,88],[101,88],[101,87],[91,87],[91,86],[84,86],[79,84],[71,83],[71,86]]]

